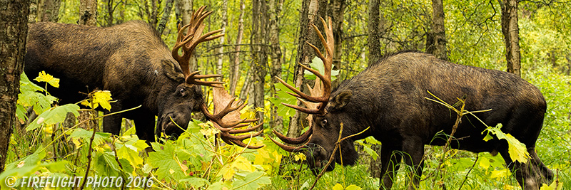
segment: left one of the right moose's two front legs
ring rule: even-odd
[[[388,145],[380,147],[380,187],[379,189],[390,189],[393,186],[395,174],[400,167],[400,154],[393,154],[394,149]]]

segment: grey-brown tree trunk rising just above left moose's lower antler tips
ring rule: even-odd
[[[264,84],[268,70],[268,36],[266,35],[268,18],[268,4],[265,0],[252,1],[252,36],[251,36],[251,85],[248,95],[250,103],[256,107],[264,108]],[[263,122],[263,112],[258,112],[258,122]]]

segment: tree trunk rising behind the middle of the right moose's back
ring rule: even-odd
[[[426,52],[442,60],[448,60],[442,0],[433,0],[433,26],[432,32],[427,33]]]

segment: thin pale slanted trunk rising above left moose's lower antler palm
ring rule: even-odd
[[[240,0],[240,18],[238,18],[238,35],[236,36],[236,55],[234,55],[234,62],[230,68],[230,95],[236,94],[236,86],[238,79],[240,79],[240,44],[242,43],[242,36],[244,33],[244,9],[246,5],[244,0]]]

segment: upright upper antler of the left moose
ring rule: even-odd
[[[206,19],[206,16],[212,14],[212,11],[204,12],[206,6],[201,6],[191,17],[190,23],[183,26],[178,25],[178,36],[176,37],[176,43],[173,47],[173,58],[181,65],[181,69],[183,70],[183,74],[185,77],[185,81],[188,84],[196,84],[196,85],[207,85],[212,87],[221,87],[222,82],[218,81],[203,81],[200,80],[202,78],[215,78],[221,77],[222,75],[198,75],[201,71],[195,71],[191,73],[190,70],[190,63],[188,62],[191,58],[191,55],[194,51],[194,48],[198,46],[198,43],[202,43],[205,41],[211,41],[213,39],[219,38],[224,36],[223,33],[214,35],[215,33],[221,32],[222,29],[208,32],[202,35],[202,31],[204,30],[204,24],[202,21]],[[188,28],[186,35],[184,34],[184,30]],[[181,56],[178,54],[178,51],[182,48],[183,55]]]

